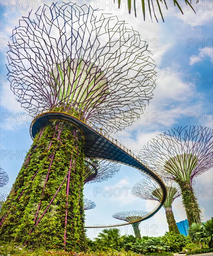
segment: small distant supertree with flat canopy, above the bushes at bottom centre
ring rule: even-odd
[[[133,226],[134,234],[136,238],[141,238],[139,225],[149,213],[146,211],[125,211],[113,214],[113,218],[129,222]],[[135,222],[138,221],[138,222]],[[132,223],[134,222],[134,223]]]

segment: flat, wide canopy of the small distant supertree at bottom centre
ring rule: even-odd
[[[126,222],[136,222],[142,221],[149,213],[146,211],[124,211],[113,214],[113,218],[126,221]]]

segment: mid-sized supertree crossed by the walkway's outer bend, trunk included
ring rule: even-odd
[[[165,181],[164,181],[165,182]],[[166,201],[163,204],[163,207],[166,212],[166,220],[169,226],[169,231],[175,233],[180,233],[178,226],[174,219],[172,204],[175,198],[181,195],[180,187],[176,182],[165,182],[166,184]],[[140,197],[145,200],[155,200],[160,202],[162,198],[162,190],[158,183],[153,182],[149,177],[144,178],[140,182],[137,182],[132,189],[132,193],[135,196]]]

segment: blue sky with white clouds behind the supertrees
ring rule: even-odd
[[[29,127],[32,118],[16,102],[7,81],[7,40],[13,28],[19,25],[22,15],[51,1],[1,1],[1,163],[9,175],[8,188],[12,187],[21,168],[27,150],[32,144]],[[185,10],[182,15],[172,5],[164,12],[165,23],[153,23],[147,16],[142,19],[140,10],[137,18],[127,14],[126,4],[120,10],[112,1],[78,0],[77,3],[99,7],[103,13],[113,13],[119,20],[126,20],[128,26],[147,40],[156,64],[157,86],[153,99],[146,107],[140,121],[114,137],[132,150],[140,150],[154,136],[166,129],[186,125],[213,127],[213,23],[212,1],[203,1],[196,7],[197,14]],[[140,4],[140,1],[138,1]],[[172,2],[172,1],[171,1]],[[153,209],[154,202],[140,200],[131,195],[134,183],[140,180],[139,172],[122,166],[120,172],[107,182],[87,184],[85,195],[96,203],[96,208],[86,212],[86,224],[119,223],[112,214],[123,210]],[[1,188],[5,192],[8,188]],[[213,216],[213,172],[207,171],[196,178],[195,190],[202,210],[203,221]],[[108,193],[107,193],[108,191]],[[111,194],[110,194],[111,193]],[[181,199],[173,203],[176,221],[186,218]],[[166,216],[161,209],[151,219],[140,224],[141,234],[160,236],[168,231]],[[89,229],[90,238],[97,236],[99,229]],[[121,229],[122,234],[132,234],[131,226]]]

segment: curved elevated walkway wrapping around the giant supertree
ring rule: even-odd
[[[143,217],[134,222],[139,222],[141,220],[146,220],[152,217],[157,213],[162,207],[163,203],[166,200],[166,187],[162,182],[160,177],[156,175],[150,168],[148,168],[142,161],[136,157],[130,150],[121,145],[117,140],[114,140],[108,135],[102,134],[101,131],[97,131],[94,128],[90,127],[87,123],[81,121],[80,119],[74,117],[73,115],[62,113],[62,112],[46,112],[37,116],[30,127],[30,133],[32,138],[40,131],[44,125],[51,123],[52,120],[66,121],[73,124],[76,128],[79,128],[82,134],[84,135],[84,154],[88,158],[99,158],[113,162],[119,162],[125,165],[129,165],[133,168],[137,168],[140,171],[150,175],[155,182],[160,185],[160,188],[163,191],[163,196],[159,205],[149,212],[147,216]],[[131,223],[134,223],[131,222]],[[122,223],[115,225],[100,225],[98,227],[117,227],[128,225],[131,223]],[[87,226],[85,228],[97,228],[96,226]]]

